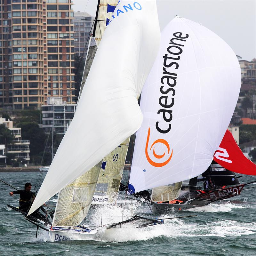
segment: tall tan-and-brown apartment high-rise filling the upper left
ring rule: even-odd
[[[75,95],[71,5],[71,0],[0,1],[1,107],[40,109],[49,97],[66,101]]]

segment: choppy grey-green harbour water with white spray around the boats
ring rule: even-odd
[[[2,180],[16,188],[25,182],[36,182],[38,172],[0,172]],[[256,180],[255,176],[240,178],[241,183]],[[1,184],[0,196],[0,253],[2,255],[256,255],[256,188],[222,203],[210,204],[179,214],[197,214],[187,219],[165,220],[164,225],[137,229],[125,228],[99,232],[95,240],[47,242],[47,232],[35,238],[36,227],[24,216],[8,209],[6,204],[18,205],[19,196],[9,196],[12,190]],[[256,186],[252,184],[251,186]],[[32,187],[33,190],[33,187]],[[54,201],[54,199],[52,200]],[[55,200],[56,201],[56,200]],[[149,216],[148,206],[128,204],[124,218],[134,214]],[[122,209],[116,206],[91,211],[95,223],[112,223],[122,219]],[[87,222],[88,224],[89,222]]]

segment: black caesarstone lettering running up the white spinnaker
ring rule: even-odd
[[[176,32],[173,34],[173,38],[170,40],[171,44],[167,47],[167,54],[163,56],[164,58],[164,67],[163,67],[163,74],[161,78],[162,84],[167,84],[169,87],[167,90],[164,90],[164,86],[160,87],[160,92],[164,94],[164,96],[161,96],[159,98],[159,105],[162,107],[158,110],[157,114],[163,115],[163,119],[168,124],[161,124],[161,127],[159,127],[159,122],[156,122],[156,130],[161,133],[167,133],[171,130],[171,124],[172,121],[172,110],[170,108],[174,105],[174,98],[171,98],[171,102],[168,101],[168,96],[174,96],[175,95],[175,85],[177,84],[177,74],[171,73],[171,67],[175,66],[175,69],[179,68],[178,60],[180,60],[180,54],[183,52],[182,48],[184,44],[182,42],[186,42],[186,38],[188,38],[188,34],[186,36],[182,35],[182,32]],[[167,70],[168,69],[168,70]],[[172,95],[166,95],[169,92],[172,92]]]

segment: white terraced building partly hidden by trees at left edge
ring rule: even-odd
[[[18,158],[24,158],[29,162],[30,143],[29,140],[22,140],[21,128],[13,126],[13,122],[9,119],[8,121],[6,121],[5,118],[0,118],[0,124],[4,124],[4,126],[8,128],[14,136],[14,143],[8,145],[7,153],[15,154],[15,160],[17,160]]]

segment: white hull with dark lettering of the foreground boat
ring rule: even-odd
[[[50,242],[57,241],[70,241],[70,240],[91,240],[93,239],[98,230],[93,229],[90,231],[76,231],[76,230],[49,230],[48,234]]]

